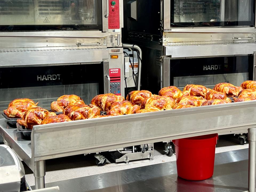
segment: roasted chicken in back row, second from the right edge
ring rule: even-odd
[[[238,96],[238,93],[242,91],[243,88],[234,86],[231,83],[219,83],[215,85],[213,90],[225,93],[227,97],[234,97]]]

